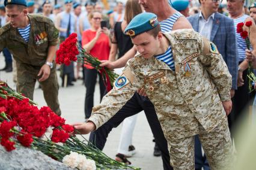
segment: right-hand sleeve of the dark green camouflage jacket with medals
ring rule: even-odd
[[[59,31],[58,29],[56,29],[52,20],[49,20],[47,24],[48,24],[47,34],[48,34],[49,46],[55,46],[59,43]]]

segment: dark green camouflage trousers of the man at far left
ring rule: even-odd
[[[17,64],[17,92],[23,93],[27,98],[33,99],[35,82],[38,80],[38,72],[41,66],[32,66],[24,63]],[[44,99],[47,105],[59,116],[61,110],[59,109],[58,101],[58,78],[56,74],[56,67],[50,70],[50,75],[47,80],[39,82],[43,90]]]

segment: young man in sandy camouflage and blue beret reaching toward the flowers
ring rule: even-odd
[[[139,51],[130,59],[81,133],[99,128],[141,88],[154,104],[168,141],[174,169],[194,169],[194,135],[199,135],[212,169],[232,169],[231,75],[216,45],[192,29],[162,33],[156,15],[142,13],[126,28]],[[156,59],[171,46],[175,69]]]

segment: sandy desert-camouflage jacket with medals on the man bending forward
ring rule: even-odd
[[[230,100],[232,80],[216,46],[191,29],[164,35],[172,47],[175,71],[155,57],[130,59],[114,89],[93,108],[89,120],[97,128],[141,87],[154,104],[163,132],[172,138],[199,133],[199,123],[210,131],[226,119],[222,101]]]

